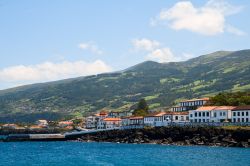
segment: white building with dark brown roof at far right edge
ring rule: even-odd
[[[238,106],[232,109],[232,122],[250,122],[250,106]]]

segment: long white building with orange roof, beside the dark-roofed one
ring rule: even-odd
[[[233,106],[203,106],[189,111],[191,123],[230,122]]]

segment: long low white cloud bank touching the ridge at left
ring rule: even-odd
[[[110,72],[111,70],[111,67],[101,60],[91,63],[85,61],[45,62],[37,65],[18,65],[0,69],[0,81],[1,84],[12,87]]]

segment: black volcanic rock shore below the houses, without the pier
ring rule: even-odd
[[[206,145],[250,147],[250,130],[227,130],[215,127],[157,127],[101,131],[86,134],[77,141],[161,145]]]

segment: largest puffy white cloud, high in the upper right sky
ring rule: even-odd
[[[234,33],[227,29],[226,17],[241,10],[241,6],[233,6],[223,0],[210,0],[202,7],[194,7],[190,1],[181,1],[169,9],[163,9],[157,18],[151,19],[150,24],[167,23],[174,30],[189,30],[210,36],[225,30]]]

